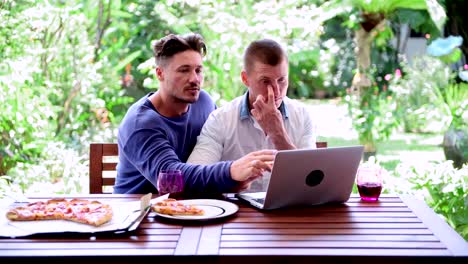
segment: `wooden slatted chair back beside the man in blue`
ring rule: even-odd
[[[89,193],[112,193],[117,175],[119,149],[116,143],[91,143]]]

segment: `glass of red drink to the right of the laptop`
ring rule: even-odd
[[[382,192],[382,168],[370,164],[359,166],[356,184],[363,201],[377,201]]]

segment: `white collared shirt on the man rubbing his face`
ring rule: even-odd
[[[237,160],[246,154],[275,149],[269,136],[250,114],[248,93],[216,109],[208,117],[187,163],[212,164]],[[298,148],[315,148],[315,126],[309,110],[297,100],[285,97],[278,108],[291,142]]]

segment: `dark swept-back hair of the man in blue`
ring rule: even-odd
[[[164,66],[168,59],[179,52],[193,50],[205,56],[206,45],[200,34],[187,34],[183,36],[170,34],[153,44],[156,65]]]

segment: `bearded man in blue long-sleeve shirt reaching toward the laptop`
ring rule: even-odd
[[[114,193],[157,193],[160,170],[181,170],[188,195],[238,191],[271,170],[274,150],[206,166],[184,163],[216,108],[201,90],[206,46],[198,34],[170,34],[153,48],[160,87],[133,104],[119,127]]]

